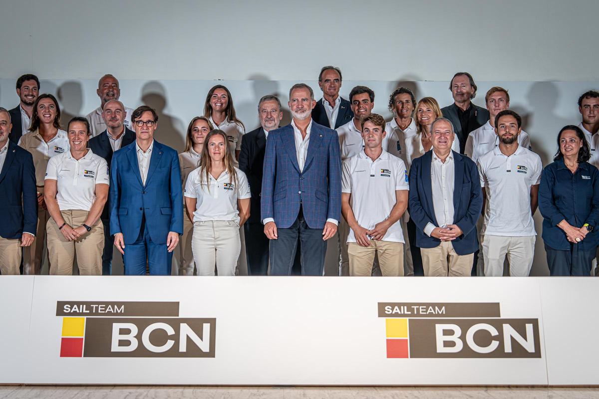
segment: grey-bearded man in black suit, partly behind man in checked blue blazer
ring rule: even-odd
[[[281,102],[276,96],[264,96],[258,102],[261,126],[241,138],[239,169],[246,173],[250,184],[250,218],[243,225],[246,237],[247,274],[266,276],[268,270],[268,245],[260,218],[260,193],[262,191],[262,166],[268,132],[279,129],[283,117]]]

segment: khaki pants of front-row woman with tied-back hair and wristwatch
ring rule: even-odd
[[[78,227],[85,223],[88,211],[68,209],[60,211],[66,224]],[[78,240],[68,241],[58,229],[54,219],[46,224],[51,275],[72,275],[73,262],[77,257],[80,275],[102,275],[102,251],[104,251],[104,226],[98,219],[92,231]]]

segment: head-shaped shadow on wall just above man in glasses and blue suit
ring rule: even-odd
[[[158,114],[156,140],[181,153],[185,149],[186,126],[178,118],[165,114],[166,92],[161,83],[150,81],[141,88],[141,102],[154,108]]]

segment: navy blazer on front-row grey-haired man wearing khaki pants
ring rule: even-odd
[[[458,255],[467,255],[479,249],[476,221],[480,216],[483,204],[482,190],[479,171],[474,162],[455,151],[452,153],[453,165],[455,165],[453,224],[458,225],[464,233],[453,240],[452,244]],[[410,168],[408,208],[410,218],[418,227],[416,245],[420,248],[435,248],[441,243],[441,240],[429,237],[423,231],[427,223],[439,226],[432,206],[431,161],[432,150],[413,160]]]

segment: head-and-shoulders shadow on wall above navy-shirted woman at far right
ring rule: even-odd
[[[558,96],[558,87],[553,82],[534,83],[526,96],[527,102],[533,109],[528,112],[526,124],[524,124],[524,120],[522,122],[524,126],[529,126],[529,129],[525,130],[530,135],[531,147],[533,147],[533,150],[534,148],[542,148],[541,141],[550,140],[555,143],[550,147],[552,148],[551,157],[539,153],[543,165],[549,165],[549,163],[553,162],[553,154],[557,151],[557,136],[559,130],[568,124],[578,124],[576,121],[567,120],[558,116]],[[572,106],[577,107],[576,104],[573,104]],[[538,118],[539,115],[543,115],[542,123],[541,121],[538,121],[539,123],[537,123],[536,118]],[[536,130],[535,125],[540,126],[541,124],[544,126],[551,126],[551,131],[539,132],[539,130]]]

